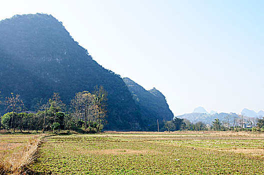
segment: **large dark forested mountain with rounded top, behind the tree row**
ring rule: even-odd
[[[122,78],[104,69],[61,22],[47,14],[0,21],[0,91],[19,93],[28,109],[59,92],[69,103],[78,91],[103,85],[108,92],[106,129],[140,129],[138,106]]]

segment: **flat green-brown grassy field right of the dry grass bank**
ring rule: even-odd
[[[39,174],[264,174],[264,135],[105,132],[41,139]]]

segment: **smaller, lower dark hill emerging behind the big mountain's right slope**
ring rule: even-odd
[[[168,107],[165,96],[155,88],[145,90],[131,79],[125,77],[123,81],[133,95],[133,99],[139,105],[143,123],[149,129],[156,129],[156,120],[171,120],[173,113]]]

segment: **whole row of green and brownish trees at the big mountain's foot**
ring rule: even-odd
[[[92,92],[77,92],[67,107],[54,92],[48,101],[38,101],[35,111],[25,111],[19,94],[0,98],[6,106],[7,113],[0,119],[0,128],[12,129],[14,132],[27,130],[76,130],[82,132],[99,132],[105,125],[107,116],[107,91],[96,86]]]

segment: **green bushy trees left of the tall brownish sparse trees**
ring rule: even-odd
[[[6,110],[9,111],[1,117],[2,127],[5,129],[16,130],[38,130],[44,131],[51,129],[54,122],[64,128],[64,116],[62,108],[65,104],[60,100],[58,93],[53,93],[52,97],[46,104],[41,105],[41,101],[37,104],[37,111],[22,112],[24,109],[23,101],[20,99],[19,94],[11,93],[10,97],[6,97],[5,104]],[[44,110],[43,110],[44,109]]]

